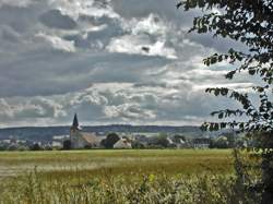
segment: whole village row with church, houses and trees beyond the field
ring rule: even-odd
[[[223,133],[217,137],[189,136],[165,132],[86,132],[81,128],[76,113],[70,134],[54,135],[50,142],[17,139],[0,140],[0,151],[52,151],[103,148],[230,148],[235,145],[251,146],[241,135]]]

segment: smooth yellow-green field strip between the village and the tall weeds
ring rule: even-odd
[[[37,168],[38,171],[88,171],[102,169],[112,175],[232,172],[232,152],[219,149],[127,149],[70,152],[5,152],[0,153],[0,177],[14,176]]]

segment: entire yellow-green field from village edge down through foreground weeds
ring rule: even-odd
[[[227,203],[237,196],[228,149],[0,153],[0,203]]]

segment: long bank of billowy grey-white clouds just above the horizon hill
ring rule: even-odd
[[[97,83],[86,89],[63,95],[2,98],[0,103],[4,111],[0,119],[17,124],[22,120],[34,119],[39,125],[45,121],[47,124],[57,121],[69,123],[73,113],[78,112],[83,124],[112,121],[159,124],[168,120],[168,124],[189,124],[190,119],[192,124],[198,124],[225,101],[224,98],[209,97],[203,91],[192,88],[190,83],[179,87]]]

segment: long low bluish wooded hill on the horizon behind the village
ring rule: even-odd
[[[204,133],[199,127],[165,127],[165,125],[96,125],[82,127],[87,132],[126,132],[126,133],[173,133],[185,134],[192,137],[203,136]],[[3,139],[20,139],[29,141],[51,141],[55,135],[69,134],[70,127],[25,127],[25,128],[7,128],[0,129],[0,140]],[[206,133],[207,134],[207,133]]]

